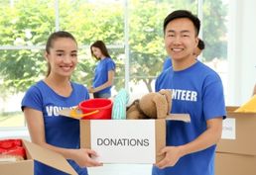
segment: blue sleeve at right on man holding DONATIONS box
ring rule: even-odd
[[[214,74],[208,76],[203,88],[202,103],[205,120],[215,117],[225,118],[225,102],[220,77]]]

